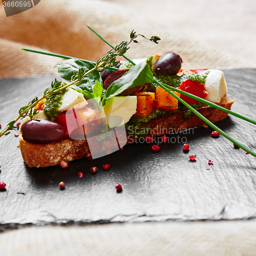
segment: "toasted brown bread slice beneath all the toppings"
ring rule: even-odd
[[[222,98],[220,106],[230,110],[234,99]],[[204,117],[212,123],[223,120],[228,115],[226,112],[206,108],[205,106],[197,109]],[[151,126],[150,136],[160,136],[166,133],[178,132],[192,127],[205,125],[204,121],[195,114],[185,119],[184,112],[176,112],[165,115],[142,125]],[[127,144],[135,142],[135,138],[127,134]],[[61,161],[72,161],[85,157],[90,153],[87,140],[63,139],[49,144],[34,144],[26,142],[22,136],[19,136],[19,147],[24,162],[29,167],[46,167],[59,164]],[[102,151],[108,148],[108,144],[102,146]]]

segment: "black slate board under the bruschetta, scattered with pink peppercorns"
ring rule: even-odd
[[[256,69],[224,73],[228,97],[236,98],[232,110],[255,119]],[[1,80],[2,127],[16,117],[20,106],[40,96],[53,79]],[[233,116],[217,125],[256,151],[256,126]],[[12,132],[0,138],[0,181],[7,184],[0,192],[0,224],[254,218],[256,159],[235,149],[222,136],[211,138],[211,131],[197,128],[170,135],[187,139],[187,154],[178,142],[160,144],[157,153],[152,152],[151,144],[132,144],[111,156],[70,162],[67,169],[26,166]],[[195,154],[197,161],[189,162],[188,156]],[[208,160],[214,165],[209,166]],[[106,163],[111,165],[108,171],[101,167]],[[92,175],[91,166],[97,166],[98,173]],[[78,172],[83,172],[82,178]],[[66,183],[65,190],[59,189],[60,181]],[[122,185],[121,193],[116,192],[116,183]]]

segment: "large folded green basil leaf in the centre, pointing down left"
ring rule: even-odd
[[[106,99],[110,99],[124,90],[136,86],[143,86],[147,82],[153,82],[153,74],[145,61],[133,66],[127,73],[115,80],[106,90],[106,94],[102,100],[104,105]]]

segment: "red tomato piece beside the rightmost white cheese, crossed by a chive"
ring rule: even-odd
[[[195,96],[198,96],[202,99],[206,98],[206,96],[208,95],[208,92],[204,88],[204,83],[189,80],[189,79],[182,82],[179,89],[184,91],[184,92],[191,93]],[[190,98],[188,96],[185,96],[183,94],[180,95],[180,98],[183,99],[184,101],[186,101],[188,104],[199,102],[198,100],[192,99],[192,98]]]

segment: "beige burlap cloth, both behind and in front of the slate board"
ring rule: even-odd
[[[127,53],[131,58],[174,51],[188,69],[256,67],[255,17],[255,0],[41,0],[11,17],[1,3],[0,78],[56,74],[60,58],[24,47],[97,60],[110,48],[86,24],[113,45],[129,39],[133,29],[162,38],[158,45],[139,39]],[[29,227],[0,233],[0,255],[147,255],[165,249],[228,254],[256,249],[255,227],[254,221]]]

